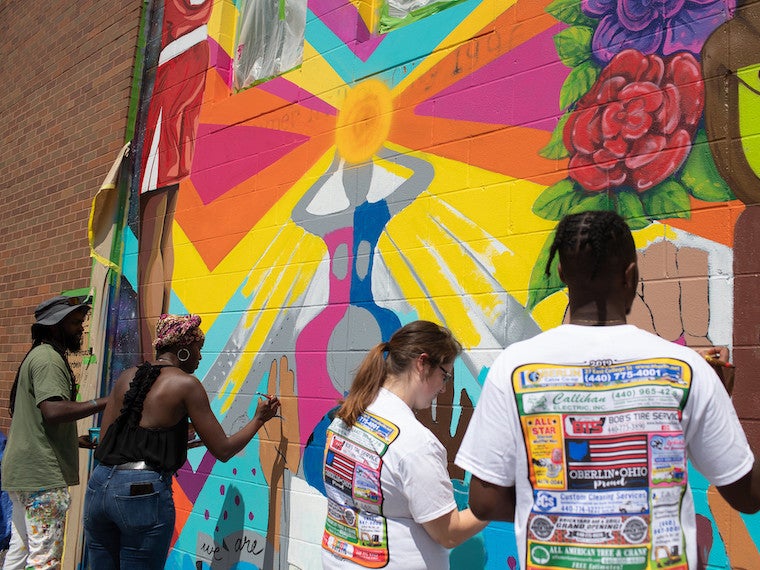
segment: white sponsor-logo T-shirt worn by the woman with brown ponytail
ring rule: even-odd
[[[446,450],[398,396],[381,388],[354,426],[332,422],[324,478],[324,568],[449,567],[422,526],[457,508]]]

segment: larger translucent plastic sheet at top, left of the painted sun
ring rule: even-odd
[[[234,63],[244,89],[301,64],[306,0],[243,0]]]

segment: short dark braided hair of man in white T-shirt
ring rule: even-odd
[[[593,279],[612,258],[632,258],[635,252],[631,229],[619,214],[607,210],[570,214],[557,224],[544,271],[547,276],[551,274],[556,254],[563,258],[590,253],[593,259],[590,277]]]

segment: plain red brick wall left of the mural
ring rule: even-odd
[[[89,286],[92,197],[124,143],[140,0],[0,3],[0,429],[32,313]]]

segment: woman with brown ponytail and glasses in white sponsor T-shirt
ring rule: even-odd
[[[327,430],[324,568],[446,569],[448,549],[485,527],[457,509],[446,450],[414,415],[461,351],[448,329],[414,321],[362,362]]]

